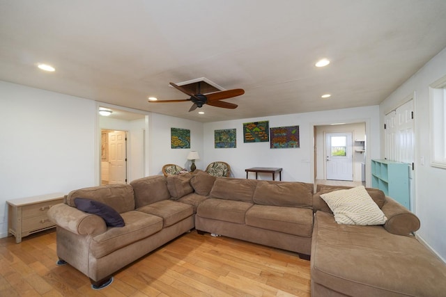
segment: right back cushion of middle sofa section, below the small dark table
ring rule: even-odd
[[[312,207],[313,184],[259,181],[254,203],[278,207]]]

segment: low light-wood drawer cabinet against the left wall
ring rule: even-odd
[[[22,237],[29,234],[56,227],[47,217],[47,211],[54,204],[63,203],[63,195],[52,193],[6,201],[8,232],[15,236],[15,242],[22,242]]]

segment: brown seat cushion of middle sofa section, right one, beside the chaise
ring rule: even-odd
[[[246,212],[246,225],[302,237],[311,237],[313,210],[254,205]]]

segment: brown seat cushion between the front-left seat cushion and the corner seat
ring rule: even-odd
[[[194,214],[192,205],[176,202],[174,200],[161,200],[144,207],[139,207],[137,211],[160,216],[164,221],[164,227],[174,225],[180,220],[184,220],[188,216]]]

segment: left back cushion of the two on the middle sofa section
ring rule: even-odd
[[[256,179],[217,177],[209,195],[212,198],[252,202],[257,182]]]

